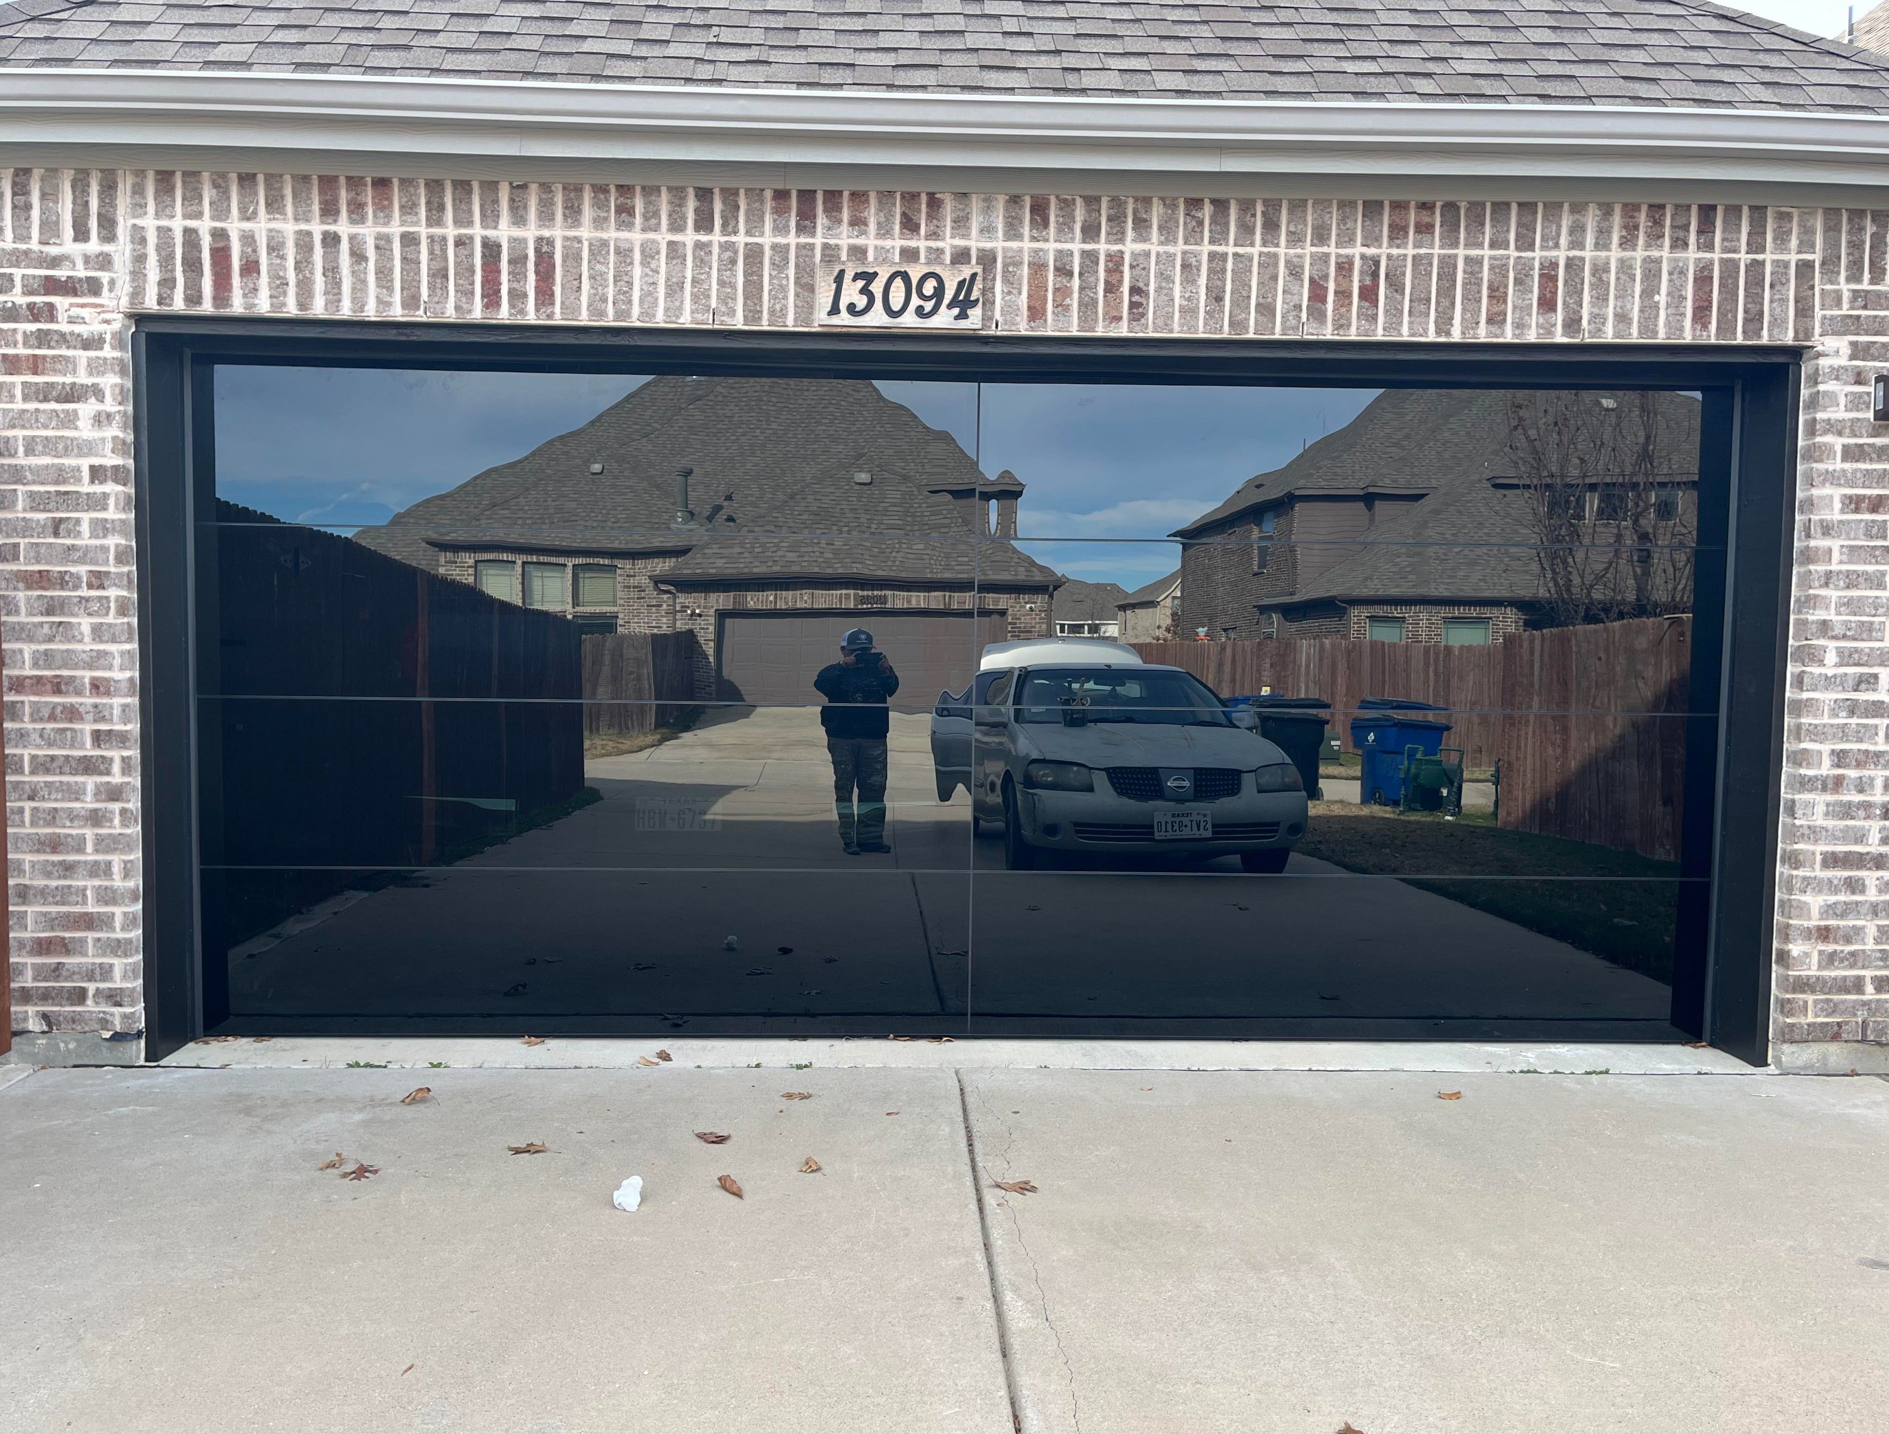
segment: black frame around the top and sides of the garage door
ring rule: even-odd
[[[145,1050],[204,1030],[195,504],[213,482],[215,363],[1279,387],[1681,389],[1704,397],[1674,1024],[1747,1062],[1770,1043],[1772,913],[1800,350],[587,329],[147,316],[132,333],[144,756]],[[1691,931],[1691,937],[1687,937]]]

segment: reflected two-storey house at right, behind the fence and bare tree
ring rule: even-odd
[[[1689,395],[1392,389],[1173,537],[1215,639],[1485,644],[1691,608]]]

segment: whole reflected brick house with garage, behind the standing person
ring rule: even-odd
[[[914,691],[1043,637],[1022,493],[869,382],[654,378],[359,540],[589,635],[695,633],[697,699],[807,701],[852,625]]]

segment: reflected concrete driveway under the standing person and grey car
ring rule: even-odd
[[[716,708],[593,760],[601,801],[453,867],[349,894],[238,950],[232,1009],[519,1020],[844,1016],[1320,1020],[1334,1035],[1451,1022],[1613,1022],[1670,1035],[1666,986],[1404,882],[1294,858],[1007,873],[939,803],[926,716],[892,718],[890,856],[846,856],[816,708]],[[954,1026],[956,1022],[956,1026]],[[929,1026],[926,1026],[929,1030]]]

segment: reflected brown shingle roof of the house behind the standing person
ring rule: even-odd
[[[682,467],[693,470],[686,527]],[[652,378],[589,423],[355,538],[425,569],[438,548],[682,552],[665,576],[1054,584],[1009,542],[979,540],[975,503],[927,491],[980,484],[956,438],[863,380]],[[1003,491],[1020,487],[1013,478]]]

